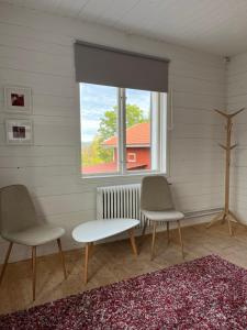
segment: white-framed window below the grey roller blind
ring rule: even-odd
[[[166,172],[167,95],[79,85],[82,175]]]

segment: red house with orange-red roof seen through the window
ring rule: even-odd
[[[117,138],[112,136],[102,143],[104,147],[113,147],[114,154],[111,163],[85,166],[83,173],[109,173],[116,170]],[[126,161],[127,169],[150,168],[150,123],[137,123],[126,130]]]

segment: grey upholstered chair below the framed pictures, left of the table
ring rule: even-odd
[[[25,186],[13,185],[0,189],[0,235],[10,242],[0,275],[0,285],[5,272],[13,243],[32,246],[33,300],[36,284],[36,246],[57,240],[64,276],[67,277],[60,237],[63,228],[37,221],[34,205]]]

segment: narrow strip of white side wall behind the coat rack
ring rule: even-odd
[[[247,223],[247,53],[234,56],[227,68],[227,109],[236,111],[245,107],[234,120],[234,142],[232,162],[232,209]]]

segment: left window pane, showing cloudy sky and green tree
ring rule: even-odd
[[[117,88],[80,84],[82,174],[117,172]]]

